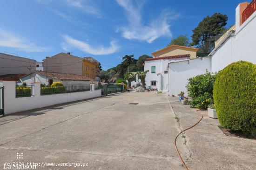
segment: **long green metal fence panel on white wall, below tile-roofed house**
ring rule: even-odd
[[[67,85],[41,87],[41,95],[90,91],[90,85]]]

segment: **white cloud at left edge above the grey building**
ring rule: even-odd
[[[42,52],[47,50],[47,47],[36,46],[26,38],[19,37],[13,33],[0,29],[0,46],[15,48],[25,52]]]

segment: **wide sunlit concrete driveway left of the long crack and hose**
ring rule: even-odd
[[[31,162],[47,170],[182,170],[173,144],[174,117],[165,95],[152,92],[13,114],[0,118],[0,166]]]

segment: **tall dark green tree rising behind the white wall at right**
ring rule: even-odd
[[[205,17],[198,26],[192,30],[192,43],[199,47],[200,52],[208,53],[214,49],[216,36],[225,30],[228,16],[221,13],[214,13],[212,16]]]

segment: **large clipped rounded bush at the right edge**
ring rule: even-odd
[[[214,102],[222,127],[256,136],[256,65],[238,61],[217,74]]]

